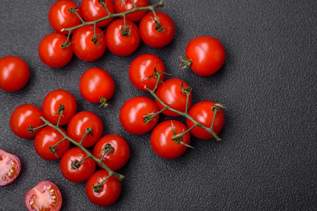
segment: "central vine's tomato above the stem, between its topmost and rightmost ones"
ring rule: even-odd
[[[186,91],[189,91],[189,97],[188,97],[188,108],[190,108],[191,100],[192,100],[192,94],[190,87],[185,81],[182,81],[179,78],[171,78],[166,80],[157,90],[156,95],[169,107],[180,111],[185,112],[186,111],[186,99],[187,95],[182,91],[182,83],[183,88]],[[163,104],[159,102],[159,100],[155,99],[155,102],[157,104],[157,107],[159,110],[162,110],[164,108]],[[165,110],[163,111],[163,114],[171,117],[180,116],[179,114],[170,111]]]

